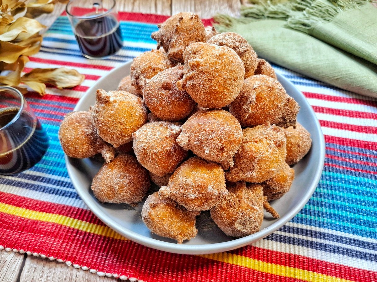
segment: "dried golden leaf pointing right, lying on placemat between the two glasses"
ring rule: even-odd
[[[44,94],[45,88],[42,89],[42,86],[38,83],[49,83],[62,89],[77,86],[81,84],[84,79],[85,76],[78,73],[76,70],[69,70],[67,68],[35,68],[21,77],[23,83],[29,85],[40,94]]]

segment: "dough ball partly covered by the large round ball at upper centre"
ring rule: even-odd
[[[176,82],[182,77],[183,65],[176,65],[146,81],[143,89],[144,102],[156,118],[178,121],[192,112],[195,101],[189,93],[176,87]]]

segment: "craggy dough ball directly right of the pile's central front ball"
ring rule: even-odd
[[[241,147],[233,157],[234,166],[225,173],[231,182],[264,182],[285,161],[287,154],[284,130],[279,126],[259,125],[243,130]]]

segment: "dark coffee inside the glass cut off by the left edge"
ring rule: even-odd
[[[6,126],[17,115],[18,108],[0,111],[0,127]],[[31,127],[32,125],[32,127]],[[23,112],[12,124],[11,132],[0,132],[0,173],[15,174],[31,168],[43,157],[48,148],[48,136],[38,120]],[[30,134],[26,134],[29,132]],[[0,151],[2,152],[2,151]]]

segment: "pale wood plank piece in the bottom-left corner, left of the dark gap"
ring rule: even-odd
[[[0,251],[0,282],[15,282],[25,256],[12,251]]]

